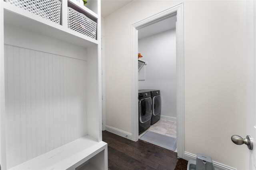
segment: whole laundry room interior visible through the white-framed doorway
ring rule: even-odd
[[[138,29],[139,139],[176,150],[176,16]]]

